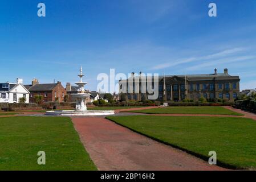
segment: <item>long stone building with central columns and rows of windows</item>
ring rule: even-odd
[[[134,74],[132,74],[134,75]],[[139,80],[139,92],[134,92],[136,89],[135,83],[133,85],[133,92],[128,92],[129,81],[119,81],[119,93],[122,92],[122,85],[127,82],[127,94],[128,100],[141,101],[147,100],[148,93],[141,93],[141,82],[147,79],[143,79],[141,76],[132,76],[133,79],[128,80]],[[136,79],[137,78],[137,79]],[[139,78],[139,79],[138,79]],[[221,98],[223,100],[233,101],[237,98],[239,93],[239,76],[229,75],[227,69],[224,69],[223,73],[217,73],[217,69],[214,69],[212,74],[201,74],[201,75],[172,75],[172,76],[159,76],[159,101],[182,101],[184,99],[190,99],[197,101],[200,97],[206,99]],[[147,85],[146,81],[146,85]],[[152,84],[153,85],[153,84]],[[131,90],[131,88],[129,88]],[[157,89],[157,88],[154,88]]]

